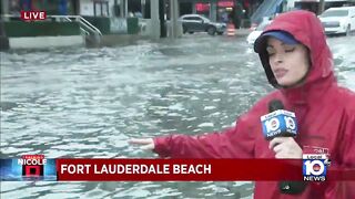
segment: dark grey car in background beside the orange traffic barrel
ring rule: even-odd
[[[180,17],[180,20],[182,21],[183,33],[207,32],[210,35],[215,33],[221,35],[226,29],[225,23],[212,22],[200,14],[185,14]]]

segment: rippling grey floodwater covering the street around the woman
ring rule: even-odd
[[[355,36],[329,38],[355,91]],[[132,137],[221,130],[268,85],[245,38],[1,52],[1,158],[150,158]],[[1,198],[251,198],[252,182],[1,182]]]

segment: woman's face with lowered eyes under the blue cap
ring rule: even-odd
[[[290,45],[270,38],[266,51],[271,70],[281,86],[292,86],[306,75],[310,62],[308,51],[304,45]]]

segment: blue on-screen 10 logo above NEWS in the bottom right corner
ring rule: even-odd
[[[303,159],[304,181],[325,181],[327,159]]]

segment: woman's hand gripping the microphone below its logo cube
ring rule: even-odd
[[[293,137],[275,137],[270,142],[268,148],[275,151],[276,159],[302,158],[302,148]]]

